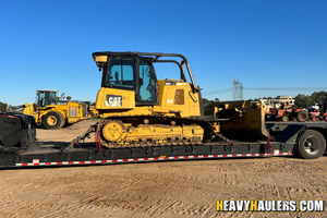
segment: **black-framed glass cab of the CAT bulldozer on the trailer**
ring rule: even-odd
[[[150,59],[137,56],[108,56],[101,64],[101,87],[134,90],[138,106],[158,104],[158,84]]]

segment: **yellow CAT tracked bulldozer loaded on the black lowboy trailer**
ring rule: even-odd
[[[201,88],[182,55],[104,51],[93,58],[102,72],[96,109],[104,119],[84,137],[96,132],[98,142],[112,148],[194,145],[246,131],[257,140],[269,136],[259,104],[225,102],[205,116]],[[180,78],[157,80],[154,63],[167,62],[178,65]]]

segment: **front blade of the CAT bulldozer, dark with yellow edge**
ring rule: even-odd
[[[265,105],[251,105],[245,100],[221,101],[217,105],[216,118],[228,119],[220,122],[221,133],[226,137],[250,142],[266,141],[269,136],[265,124]]]

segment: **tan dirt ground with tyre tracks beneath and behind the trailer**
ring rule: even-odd
[[[37,137],[70,142],[95,122],[37,129]],[[215,205],[216,199],[326,199],[326,164],[327,156],[0,169],[0,217],[326,217],[217,213]]]

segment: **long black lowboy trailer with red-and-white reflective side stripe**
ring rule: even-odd
[[[326,150],[327,124],[267,123],[275,141],[241,142],[225,137],[209,143],[162,146],[102,147],[94,143],[37,142],[33,117],[0,113],[0,167],[105,165],[182,159],[293,156],[314,159]],[[97,134],[97,133],[96,133]],[[85,135],[87,136],[87,134]],[[97,135],[96,135],[97,136]],[[97,138],[97,137],[96,137]]]

